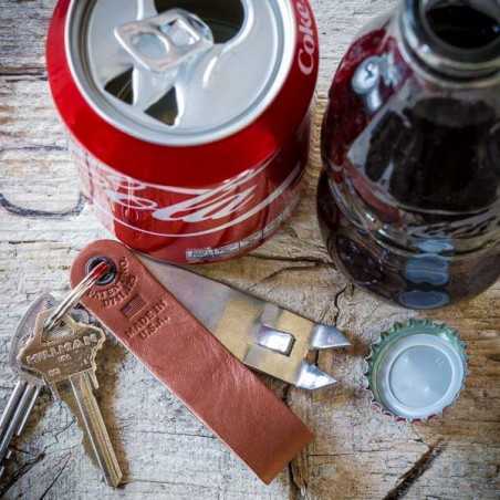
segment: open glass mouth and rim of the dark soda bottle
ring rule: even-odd
[[[500,72],[500,0],[402,0],[399,23],[410,53],[433,72]]]

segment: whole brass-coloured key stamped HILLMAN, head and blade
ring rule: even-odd
[[[44,325],[52,312],[38,315],[33,337],[21,351],[21,365],[40,373],[54,396],[73,412],[83,431],[85,451],[101,468],[106,482],[116,487],[122,471],[93,393],[98,387],[95,356],[105,334],[69,314],[48,331]]]

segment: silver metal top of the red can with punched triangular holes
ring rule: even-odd
[[[290,2],[163,4],[183,9],[72,1],[66,55],[86,102],[118,129],[163,145],[218,140],[257,119],[292,65]]]

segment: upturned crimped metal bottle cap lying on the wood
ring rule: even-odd
[[[394,420],[426,421],[441,415],[460,390],[467,369],[465,343],[446,324],[396,323],[372,344],[366,389]]]

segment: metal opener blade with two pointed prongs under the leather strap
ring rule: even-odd
[[[247,366],[309,390],[336,382],[306,361],[311,350],[350,345],[334,326],[314,323],[195,272],[138,257],[155,278]]]

